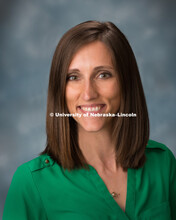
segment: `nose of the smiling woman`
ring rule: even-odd
[[[81,96],[85,101],[96,99],[98,97],[98,89],[93,80],[89,79],[83,84]]]

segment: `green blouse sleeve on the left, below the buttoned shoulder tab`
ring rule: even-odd
[[[4,206],[3,220],[46,220],[46,212],[26,164],[16,170]]]

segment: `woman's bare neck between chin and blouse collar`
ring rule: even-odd
[[[117,171],[115,141],[108,130],[87,132],[79,127],[78,142],[88,164],[100,172]]]

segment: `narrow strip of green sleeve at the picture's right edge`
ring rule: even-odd
[[[169,182],[169,192],[170,192],[170,207],[172,219],[176,219],[176,159],[173,153],[169,150],[169,168],[170,168],[170,182]]]

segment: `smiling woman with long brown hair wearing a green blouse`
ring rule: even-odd
[[[175,158],[149,140],[136,60],[113,23],[84,22],[60,40],[46,131],[46,149],[14,174],[3,220],[176,219]]]

